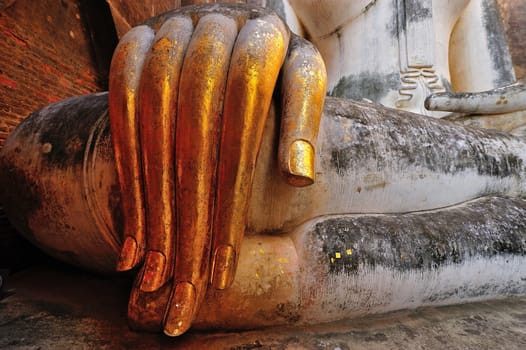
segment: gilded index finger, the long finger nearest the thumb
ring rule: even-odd
[[[214,218],[211,284],[233,280],[245,231],[248,197],[288,30],[274,15],[247,21],[236,40],[223,110]]]

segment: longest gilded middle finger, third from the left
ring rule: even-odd
[[[222,96],[236,34],[233,19],[220,14],[202,17],[181,72],[175,284],[164,325],[171,336],[190,327],[206,291]]]

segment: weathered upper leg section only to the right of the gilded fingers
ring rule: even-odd
[[[325,214],[412,212],[526,193],[526,143],[495,130],[328,98],[318,147],[317,181],[301,190],[274,175],[272,151],[261,152],[251,231],[289,231]]]

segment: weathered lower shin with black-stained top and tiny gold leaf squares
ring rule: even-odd
[[[524,295],[525,223],[526,201],[503,197],[310,221],[293,233],[300,322]]]

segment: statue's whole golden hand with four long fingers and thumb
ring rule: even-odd
[[[156,17],[120,41],[110,126],[124,214],[117,269],[142,264],[137,300],[173,279],[164,331],[191,325],[210,283],[233,281],[266,115],[282,76],[280,170],[314,180],[325,95],[316,49],[275,14],[195,6]]]

